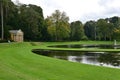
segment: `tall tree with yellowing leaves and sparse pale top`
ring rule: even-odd
[[[69,37],[69,18],[65,12],[56,10],[51,16],[47,17],[47,21],[48,32],[55,41],[61,41]]]

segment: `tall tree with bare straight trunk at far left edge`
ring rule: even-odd
[[[9,15],[9,9],[11,9],[12,2],[11,0],[1,0],[0,1],[0,7],[1,7],[1,39],[3,40],[6,37],[6,34],[8,32],[6,31],[7,27],[7,20]]]

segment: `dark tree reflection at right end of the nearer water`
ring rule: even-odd
[[[120,65],[120,56],[117,55],[117,53],[105,53],[101,54],[98,60],[101,63],[105,64],[111,64],[113,66],[119,66]]]

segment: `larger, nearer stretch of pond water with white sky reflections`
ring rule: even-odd
[[[120,53],[108,52],[74,52],[74,51],[41,51],[33,52],[53,58],[80,62],[84,64],[120,68]],[[42,53],[42,54],[41,54]]]

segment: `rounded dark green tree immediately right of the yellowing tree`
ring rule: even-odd
[[[82,40],[85,36],[83,24],[80,21],[72,22],[70,25],[71,28],[71,40]]]

